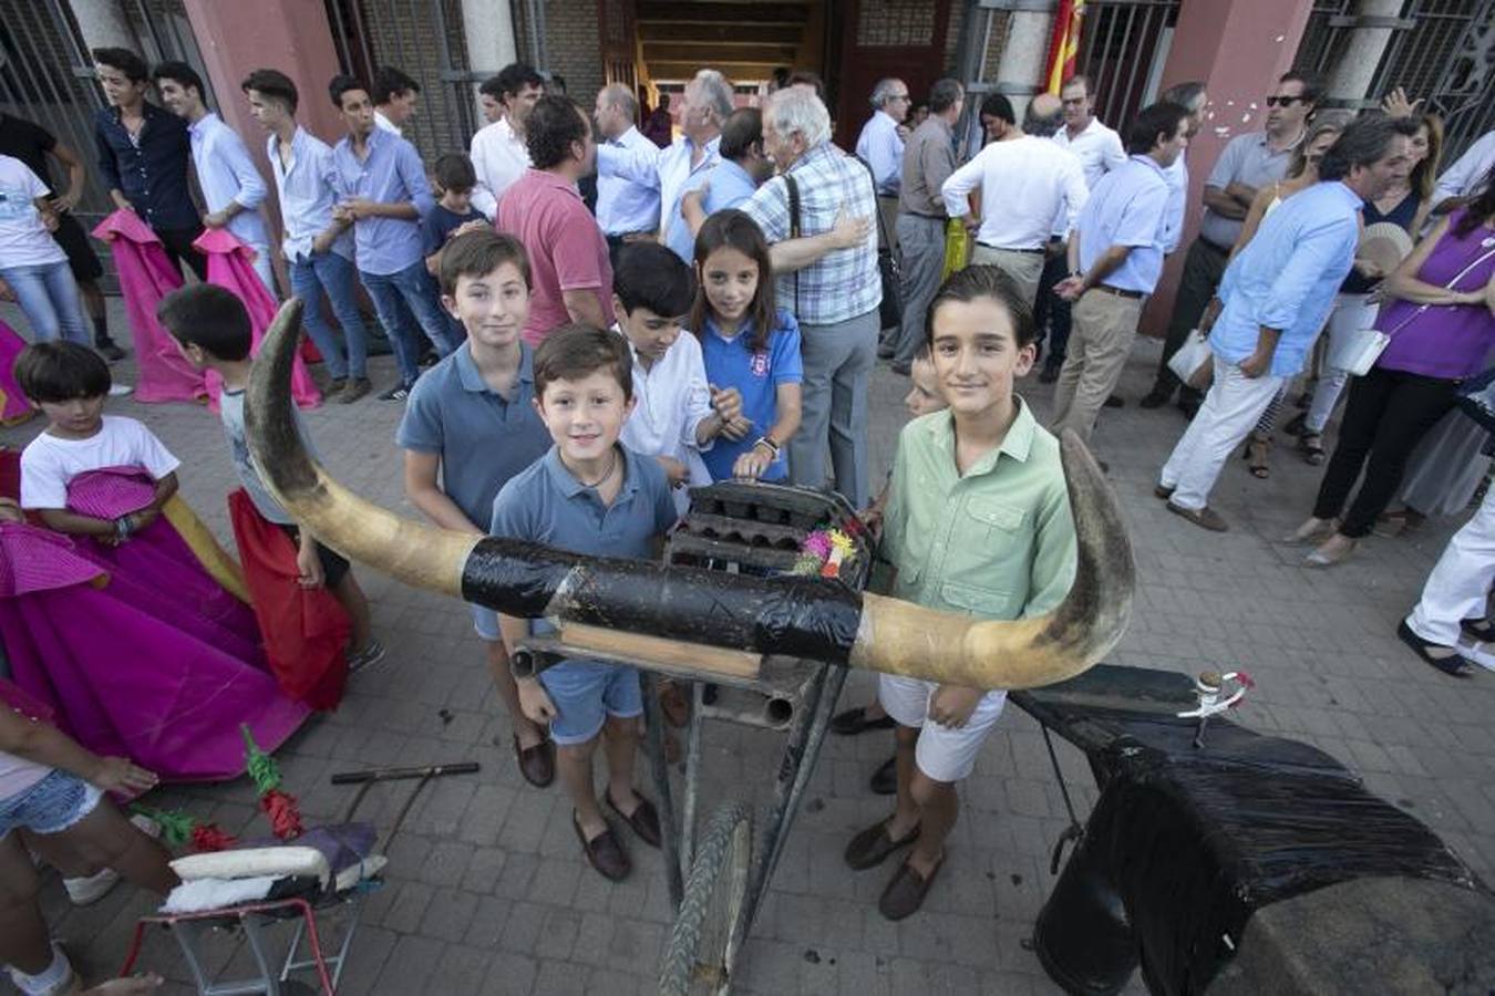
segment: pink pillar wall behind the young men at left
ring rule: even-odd
[[[300,97],[298,121],[327,145],[335,145],[342,136],[342,122],[327,97],[327,82],[338,73],[327,7],[323,0],[185,0],[185,6],[212,90],[221,102],[215,111],[250,146],[274,202],[265,130],[250,116],[239,82],[254,69],[281,70],[295,81]],[[268,206],[278,243],[280,206]]]

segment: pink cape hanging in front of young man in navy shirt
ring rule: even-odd
[[[176,342],[155,321],[155,306],[182,285],[181,272],[166,258],[161,240],[133,211],[115,211],[93,230],[109,243],[114,269],[130,315],[130,339],[139,373],[138,402],[191,402],[206,396],[202,370],[187,363]]]

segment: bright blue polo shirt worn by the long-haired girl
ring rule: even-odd
[[[785,309],[779,309],[774,323],[777,329],[768,336],[765,351],[749,348],[752,329],[748,323],[731,339],[716,330],[716,323],[707,315],[701,330],[701,352],[706,358],[706,379],[718,388],[736,387],[743,396],[743,415],[752,420],[752,432],[742,439],[718,436],[716,443],[701,454],[713,481],[733,476],[737,457],[752,449],[779,420],[779,385],[798,384],[804,379],[804,364],[800,361],[800,323]],[[786,458],[788,439],[776,441],[779,455],[764,470],[764,481],[782,481],[789,476]]]

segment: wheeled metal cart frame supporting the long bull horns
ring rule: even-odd
[[[870,575],[872,548],[845,499],[807,488],[719,482],[691,490],[691,511],[670,535],[665,563],[756,576],[791,573],[806,569],[807,538],[831,530],[843,547],[836,576],[860,591]],[[511,662],[514,673],[526,678],[564,657],[631,664],[643,676],[644,750],[653,769],[661,850],[676,911],[659,992],[727,992],[733,963],[762,905],[819,757],[846,669],[570,624],[555,636],[519,644]],[[656,675],[691,682],[679,817]],[[695,832],[707,720],[785,733],[767,823],[756,842],[753,811],[743,800],[722,802],[704,830]]]

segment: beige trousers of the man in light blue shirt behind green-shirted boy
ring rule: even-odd
[[[1070,312],[1069,351],[1054,388],[1054,435],[1073,429],[1090,441],[1096,415],[1121,379],[1136,339],[1141,297],[1088,290]]]

